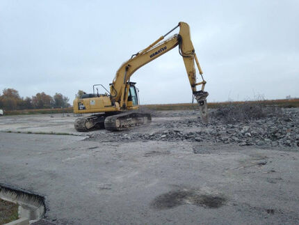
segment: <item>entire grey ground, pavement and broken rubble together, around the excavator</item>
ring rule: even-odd
[[[73,117],[4,116],[0,130],[26,133],[0,132],[0,183],[45,196],[55,224],[299,224],[298,113],[153,111],[83,133]]]

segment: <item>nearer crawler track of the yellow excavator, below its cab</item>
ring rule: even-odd
[[[106,130],[121,131],[151,122],[152,116],[150,114],[130,111],[106,117],[104,125]]]

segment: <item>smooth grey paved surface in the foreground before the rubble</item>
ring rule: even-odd
[[[0,133],[0,155],[0,183],[56,224],[299,223],[298,152]]]

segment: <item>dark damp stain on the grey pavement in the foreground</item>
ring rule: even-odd
[[[200,194],[195,190],[178,190],[157,196],[152,201],[152,208],[165,210],[179,205],[192,204],[205,208],[219,208],[227,201],[223,196]]]

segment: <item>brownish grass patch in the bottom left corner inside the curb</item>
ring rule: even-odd
[[[17,208],[17,204],[0,199],[0,224],[18,219]]]

